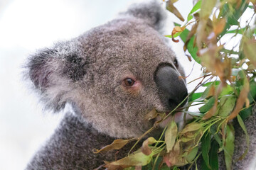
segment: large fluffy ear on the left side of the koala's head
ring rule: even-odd
[[[54,112],[65,107],[72,96],[74,81],[79,81],[86,73],[87,62],[79,57],[76,47],[73,42],[63,42],[39,50],[28,58],[25,66],[26,77],[41,94],[41,101]]]

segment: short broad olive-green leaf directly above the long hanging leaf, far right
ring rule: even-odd
[[[227,95],[220,98],[220,109],[218,113],[221,117],[225,118],[233,111],[236,99],[237,98],[233,95]]]

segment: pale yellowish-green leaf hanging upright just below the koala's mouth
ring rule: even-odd
[[[177,132],[178,132],[177,125],[175,121],[172,120],[171,123],[169,123],[164,136],[167,152],[170,152],[171,149],[174,147]]]

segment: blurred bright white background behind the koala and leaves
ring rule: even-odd
[[[158,0],[161,1],[162,0]],[[42,111],[38,98],[22,78],[22,64],[36,49],[74,38],[124,11],[129,0],[1,0],[0,1],[0,169],[25,169],[38,147],[50,137],[63,114]],[[175,6],[186,18],[191,1]],[[169,13],[166,34],[179,22]],[[182,42],[173,49],[186,74],[193,62],[183,55]],[[198,77],[200,67],[193,70]],[[192,89],[193,86],[188,86]]]

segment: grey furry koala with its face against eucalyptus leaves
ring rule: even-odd
[[[26,169],[95,169],[114,161],[114,152],[92,149],[141,136],[156,121],[145,120],[149,111],[168,113],[186,98],[183,68],[161,35],[164,18],[156,1],[134,4],[113,21],[28,58],[26,76],[46,108],[58,113],[69,103],[73,111]]]

